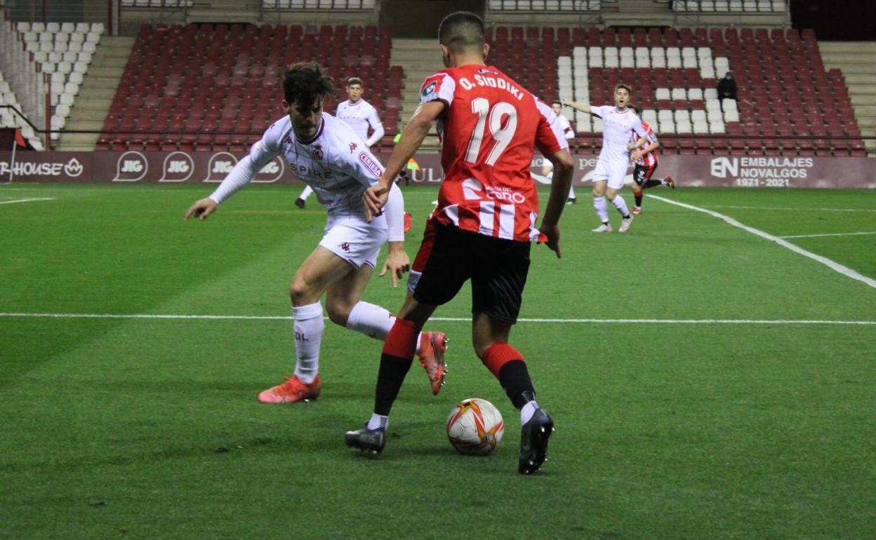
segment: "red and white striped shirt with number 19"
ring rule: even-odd
[[[420,102],[447,104],[438,123],[444,180],[430,219],[480,235],[544,240],[530,174],[534,147],[569,147],[554,111],[491,66],[444,69],[427,77]]]

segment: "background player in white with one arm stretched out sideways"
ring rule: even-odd
[[[630,130],[639,137],[646,137],[642,121],[627,105],[630,103],[630,87],[624,83],[614,88],[614,107],[611,105],[595,106],[587,103],[569,102],[563,100],[563,105],[580,110],[603,120],[603,147],[599,151],[597,168],[593,172],[593,207],[597,210],[602,225],[593,229],[595,233],[610,233],[608,221],[608,205],[605,197],[618,209],[623,216],[620,232],[625,233],[632,225],[632,214],[626,207],[624,198],[618,190],[624,186],[626,169],[630,166]]]

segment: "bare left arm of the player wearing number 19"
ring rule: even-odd
[[[375,215],[380,214],[380,209],[386,204],[389,196],[389,188],[393,180],[399,176],[401,169],[407,165],[407,161],[413,158],[414,152],[423,144],[432,124],[441,116],[445,108],[444,102],[427,102],[420,105],[413,113],[410,122],[401,132],[399,143],[392,149],[392,155],[386,162],[383,176],[378,183],[365,190],[362,199],[365,204],[365,216],[371,221]]]

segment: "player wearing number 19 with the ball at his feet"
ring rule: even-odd
[[[518,470],[533,473],[547,456],[554,420],[535,402],[523,354],[507,341],[519,314],[532,242],[547,242],[560,256],[557,222],[569,193],[572,158],[554,111],[484,64],[489,46],[477,15],[452,13],[438,34],[449,69],[423,83],[420,108],[378,184],[363,195],[366,210],[380,212],[392,180],[435,121],[442,133],[445,178],[413,263],[405,305],[385,341],[374,413],[345,439],[362,450],[384,449],[389,412],[411,367],[419,329],[471,280],[475,352],[520,410]],[[530,175],[535,146],[555,172],[540,228],[535,227],[538,193]]]

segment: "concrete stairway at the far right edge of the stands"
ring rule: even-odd
[[[843,70],[851,107],[864,137],[876,135],[876,42],[819,41],[824,67]],[[865,140],[867,155],[876,156],[876,141]]]

